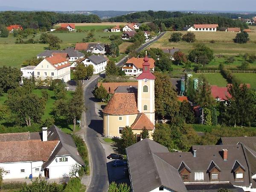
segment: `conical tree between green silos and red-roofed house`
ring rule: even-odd
[[[202,108],[210,108],[215,103],[212,98],[211,87],[204,76],[201,76],[200,81],[201,83],[198,86],[194,102]]]

